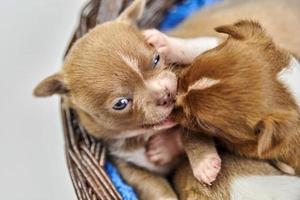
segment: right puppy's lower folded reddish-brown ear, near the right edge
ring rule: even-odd
[[[274,112],[260,120],[254,127],[258,136],[258,155],[263,157],[285,142],[287,135],[296,134],[297,120],[297,113],[292,111]]]

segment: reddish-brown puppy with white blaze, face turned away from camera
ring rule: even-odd
[[[298,61],[257,22],[216,30],[229,37],[179,78],[176,119],[234,153],[283,162],[300,174]]]

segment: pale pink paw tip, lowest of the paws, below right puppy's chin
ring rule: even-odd
[[[207,155],[192,170],[200,182],[211,185],[221,170],[221,159],[217,154]]]

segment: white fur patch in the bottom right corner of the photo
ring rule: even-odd
[[[300,178],[294,176],[248,176],[231,185],[231,200],[299,200]]]

